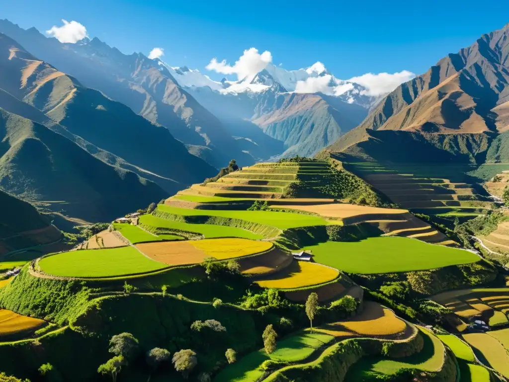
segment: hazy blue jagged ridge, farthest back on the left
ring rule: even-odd
[[[207,160],[213,167],[224,166],[233,157],[245,165],[259,159],[243,152],[221,122],[180,87],[157,60],[141,53],[123,54],[98,38],[60,43],[35,28],[23,30],[8,20],[0,20],[0,32],[39,59],[79,78],[84,86],[97,89],[166,127],[190,152],[209,151]]]

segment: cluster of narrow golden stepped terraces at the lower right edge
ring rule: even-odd
[[[509,288],[462,289],[443,292],[431,299],[463,318],[480,317],[490,326],[508,322]]]

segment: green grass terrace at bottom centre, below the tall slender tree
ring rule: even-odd
[[[253,351],[224,368],[214,382],[254,382],[263,375],[258,367],[266,360],[297,362],[309,357],[317,348],[332,341],[334,336],[300,332],[277,342],[276,350],[268,356],[265,350]]]

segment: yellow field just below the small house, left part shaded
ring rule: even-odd
[[[257,284],[263,288],[302,288],[332,281],[339,275],[340,272],[337,269],[321,264],[293,261],[280,272],[265,280],[257,281]]]

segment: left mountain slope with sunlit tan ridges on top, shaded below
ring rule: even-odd
[[[110,164],[150,177],[167,192],[216,172],[189,154],[164,127],[81,86],[5,35],[0,35],[0,52],[0,89],[4,90],[0,106],[5,110],[52,127]]]

